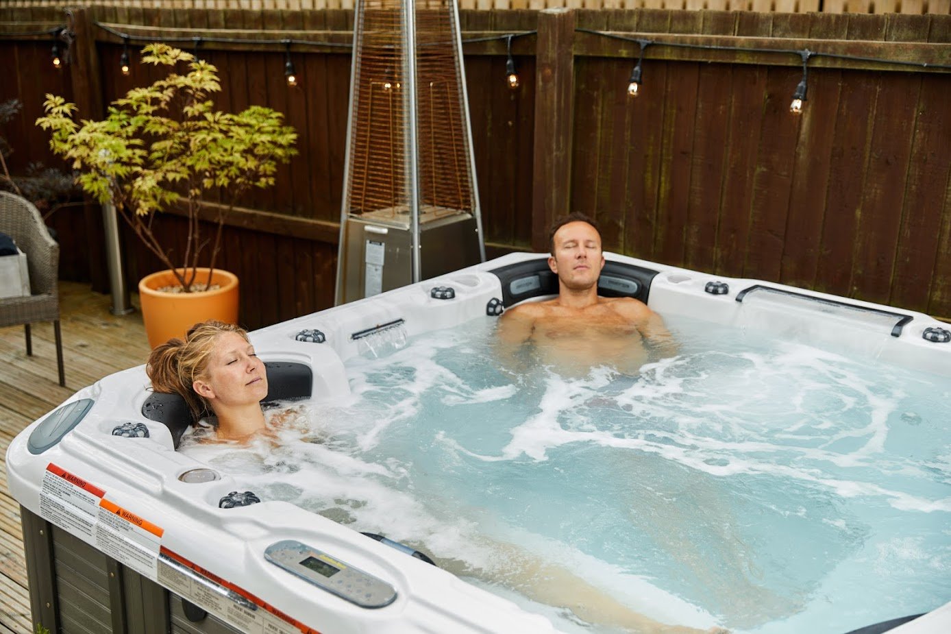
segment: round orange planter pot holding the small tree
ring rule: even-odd
[[[204,281],[208,269],[199,267],[196,280]],[[146,323],[148,345],[156,347],[172,337],[184,337],[188,328],[205,319],[238,323],[238,277],[216,268],[211,276],[215,290],[194,293],[165,293],[156,288],[178,284],[170,270],[160,270],[139,281],[139,301]]]

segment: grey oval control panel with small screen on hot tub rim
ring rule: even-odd
[[[392,585],[301,542],[275,542],[264,550],[264,558],[360,607],[383,607],[397,598]]]

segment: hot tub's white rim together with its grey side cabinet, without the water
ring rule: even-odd
[[[639,297],[662,315],[834,342],[951,374],[944,325],[921,313],[607,256],[604,293]],[[385,345],[387,333],[412,337],[494,320],[503,307],[553,292],[547,270],[545,256],[514,254],[263,328],[251,333],[252,343],[265,362],[308,367],[317,402],[338,398],[350,390],[344,363]],[[770,310],[775,303],[780,309]],[[817,326],[804,327],[806,314]],[[221,507],[240,485],[196,472],[208,466],[175,450],[161,416],[143,414],[147,386],[144,367],[111,375],[10,444],[8,482],[22,505],[34,622],[84,633],[555,631],[542,616],[299,506]],[[186,482],[188,472],[198,475]],[[372,606],[342,599],[266,559],[291,542],[325,555],[322,565],[336,562],[376,580],[392,596]],[[181,596],[209,616],[189,621]],[[893,631],[951,631],[951,608]]]

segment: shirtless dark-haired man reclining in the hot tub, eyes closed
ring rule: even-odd
[[[548,266],[558,276],[558,296],[506,310],[498,326],[502,342],[513,347],[532,342],[545,362],[569,371],[612,366],[636,372],[649,360],[649,349],[659,356],[676,354],[664,320],[646,304],[597,294],[605,260],[592,219],[572,213],[555,223],[549,236]]]

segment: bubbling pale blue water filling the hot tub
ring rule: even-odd
[[[686,319],[668,319],[680,354],[637,376],[513,374],[495,322],[471,324],[349,363],[353,394],[277,446],[183,450],[507,595],[544,584],[524,553],[737,632],[844,633],[951,596],[941,378]]]

